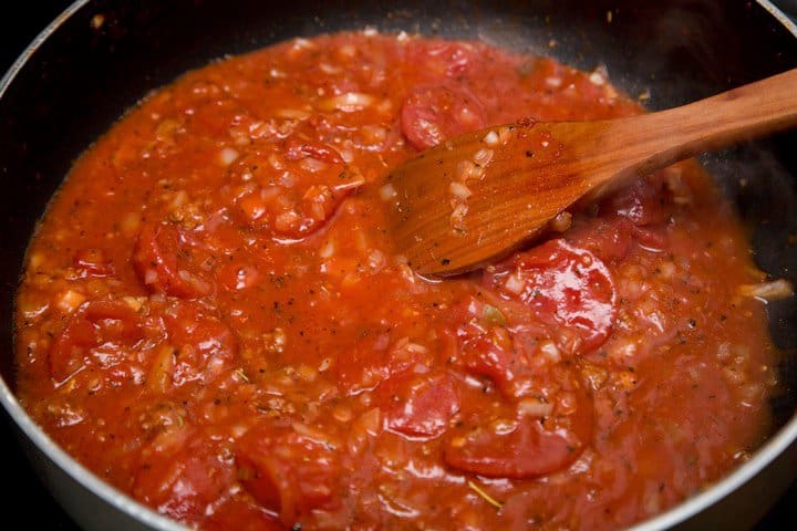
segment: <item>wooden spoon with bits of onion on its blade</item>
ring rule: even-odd
[[[393,170],[389,227],[417,272],[462,273],[528,242],[586,196],[794,125],[797,69],[658,113],[489,127]]]

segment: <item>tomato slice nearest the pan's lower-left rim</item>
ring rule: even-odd
[[[235,483],[229,455],[228,442],[197,431],[153,445],[142,454],[133,496],[176,520],[199,522]]]

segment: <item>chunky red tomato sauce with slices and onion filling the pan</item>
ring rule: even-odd
[[[373,31],[190,72],[52,201],[18,298],[20,398],[97,476],[204,529],[661,512],[745,460],[775,385],[765,279],[711,179],[673,166],[444,281],[384,229],[383,179],[420,149],[640,112],[600,70]]]

